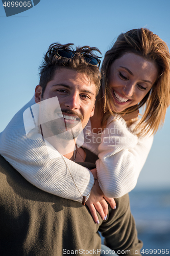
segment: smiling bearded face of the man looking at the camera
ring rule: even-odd
[[[68,68],[56,70],[53,80],[46,85],[43,98],[41,94],[42,88],[37,86],[35,89],[36,103],[57,97],[60,104],[60,106],[53,104],[50,106],[50,111],[45,114],[45,118],[56,119],[47,124],[53,134],[56,132],[62,134],[71,129],[74,131],[74,137],[77,137],[81,132],[80,125],[78,125],[80,121],[84,129],[89,118],[94,114],[96,87],[83,73]],[[68,138],[65,139],[72,139],[71,132],[66,135]]]

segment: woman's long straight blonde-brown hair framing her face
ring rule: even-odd
[[[137,134],[147,134],[150,130],[152,133],[156,133],[164,122],[166,109],[170,104],[170,55],[165,42],[146,28],[133,29],[120,34],[112,48],[105,54],[102,65],[104,75],[96,100],[97,108],[105,113],[102,124],[110,115],[114,115],[112,111],[114,110],[114,99],[108,86],[110,66],[114,60],[126,53],[135,53],[147,60],[154,61],[158,68],[158,78],[150,92],[137,105],[119,114],[131,113],[144,105],[144,114],[136,126],[137,131],[140,131]]]

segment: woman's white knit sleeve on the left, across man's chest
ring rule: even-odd
[[[30,183],[62,198],[82,202],[93,186],[89,169],[62,157],[47,141],[42,140],[38,127],[34,139],[26,135],[23,112],[35,104],[32,99],[0,133],[0,154]],[[54,158],[49,157],[54,154]]]

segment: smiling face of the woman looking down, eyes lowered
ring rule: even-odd
[[[116,59],[109,71],[109,87],[115,100],[116,112],[122,112],[139,103],[151,90],[158,69],[155,62],[135,53]]]

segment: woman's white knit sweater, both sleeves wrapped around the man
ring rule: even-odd
[[[87,168],[64,158],[74,182],[63,158],[50,143],[44,143],[37,126],[33,129],[34,140],[26,136],[23,112],[33,104],[34,98],[13,117],[0,134],[0,154],[38,188],[82,202],[77,187],[83,196],[88,195],[93,185],[93,175]],[[102,134],[93,134],[89,121],[84,133],[84,147],[99,155],[96,168],[99,184],[105,196],[117,198],[135,187],[152,146],[153,136],[138,138],[128,129],[123,118],[113,122],[112,118],[108,119],[107,127]],[[48,150],[50,148],[52,154],[55,151],[56,158],[49,158],[47,143]]]

